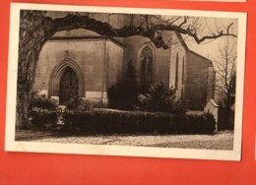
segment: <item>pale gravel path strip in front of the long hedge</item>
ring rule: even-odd
[[[16,140],[45,143],[74,143],[208,150],[232,150],[233,148],[232,132],[220,132],[215,135],[62,136],[56,133],[19,131],[16,134]]]

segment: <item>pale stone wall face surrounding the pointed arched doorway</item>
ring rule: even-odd
[[[84,92],[101,92],[103,84],[105,40],[51,40],[39,57],[34,89],[48,93],[51,72],[65,58],[78,64],[84,73]],[[66,52],[65,52],[66,51]],[[57,94],[49,94],[57,95]],[[85,96],[86,94],[84,94]]]

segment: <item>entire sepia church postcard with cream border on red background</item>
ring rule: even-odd
[[[13,3],[5,150],[240,160],[246,14]]]

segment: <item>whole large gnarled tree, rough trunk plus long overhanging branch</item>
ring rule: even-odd
[[[111,14],[108,15],[112,16]],[[45,11],[22,10],[20,17],[20,42],[18,61],[18,94],[17,94],[17,126],[30,127],[28,119],[29,100],[32,96],[32,86],[35,76],[36,64],[40,51],[45,42],[57,31],[71,31],[85,29],[95,31],[105,36],[128,37],[141,35],[149,37],[158,48],[169,48],[163,31],[176,31],[193,37],[197,43],[207,39],[215,39],[224,35],[236,36],[230,31],[232,23],[223,30],[199,34],[197,19],[191,17],[168,17],[150,15],[129,15],[130,22],[121,27],[114,28],[108,23],[98,21],[91,14],[81,15],[69,13],[62,18],[47,17]],[[135,17],[141,17],[136,23]]]

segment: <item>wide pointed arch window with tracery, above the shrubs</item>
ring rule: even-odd
[[[153,82],[153,50],[146,46],[141,52],[141,83],[150,84]]]

